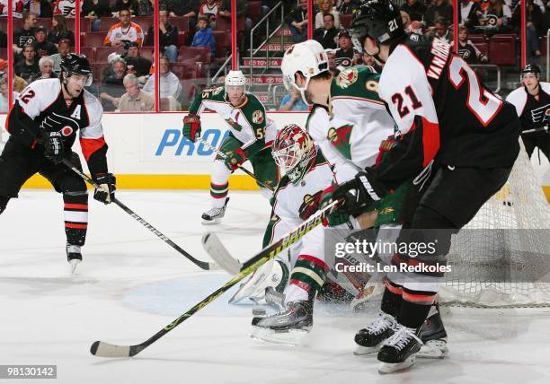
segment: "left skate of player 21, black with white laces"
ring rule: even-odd
[[[377,352],[386,339],[394,335],[397,322],[386,312],[380,311],[377,319],[360,329],[355,335],[356,350],[353,354],[369,354]]]

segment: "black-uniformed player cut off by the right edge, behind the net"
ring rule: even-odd
[[[550,83],[540,81],[540,68],[528,64],[521,70],[523,86],[510,92],[507,101],[518,112],[521,123],[521,138],[528,156],[538,147],[550,161]]]

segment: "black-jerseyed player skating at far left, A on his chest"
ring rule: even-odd
[[[107,144],[103,138],[102,105],[84,86],[92,82],[92,68],[82,55],[67,54],[59,79],[44,79],[25,88],[7,118],[11,134],[0,155],[0,214],[17,197],[23,183],[40,173],[65,202],[67,260],[74,272],[82,261],[88,226],[88,193],[84,180],[62,163],[82,168],[71,151],[76,133],[93,179],[99,185],[93,198],[111,203],[116,185],[107,170]]]

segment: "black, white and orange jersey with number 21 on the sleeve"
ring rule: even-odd
[[[391,47],[379,83],[400,140],[379,164],[388,187],[430,161],[476,168],[511,166],[519,153],[514,107],[483,87],[439,39],[414,33]]]

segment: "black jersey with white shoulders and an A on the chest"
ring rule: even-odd
[[[67,103],[58,79],[37,80],[17,97],[7,118],[10,140],[41,154],[44,132],[60,132],[67,151],[80,134],[80,146],[93,175],[107,173],[107,144],[103,137],[102,105],[90,92]]]

